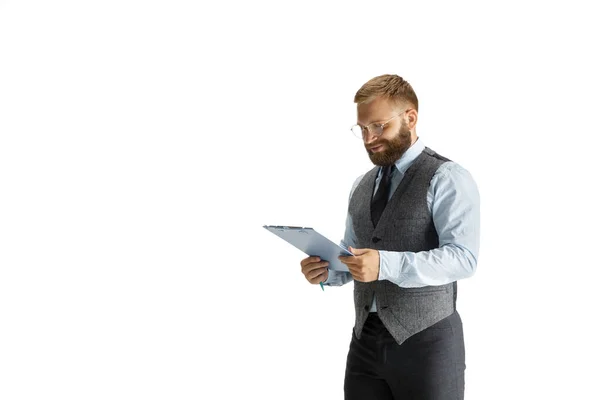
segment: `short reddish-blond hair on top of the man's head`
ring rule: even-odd
[[[415,110],[419,111],[419,100],[410,83],[398,75],[380,75],[362,85],[356,95],[356,104],[368,103],[377,98],[384,97],[398,104],[409,103]]]

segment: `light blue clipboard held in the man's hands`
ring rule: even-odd
[[[299,226],[264,225],[263,228],[279,236],[308,256],[318,256],[329,263],[329,269],[346,271],[348,267],[338,260],[338,256],[353,256],[348,249],[335,244],[313,228]]]

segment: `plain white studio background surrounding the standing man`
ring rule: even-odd
[[[481,193],[467,399],[598,392],[588,2],[0,1],[0,398],[342,399],[348,130],[396,73]]]

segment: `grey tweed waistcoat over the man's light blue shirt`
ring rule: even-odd
[[[400,185],[387,203],[377,227],[371,221],[371,198],[378,167],[367,172],[356,187],[349,204],[357,248],[419,252],[439,246],[433,218],[427,207],[431,178],[449,161],[429,148],[408,168]],[[456,282],[442,286],[402,288],[390,281],[354,281],[358,338],[369,315],[373,296],[379,318],[401,344],[410,336],[448,317],[456,306]]]

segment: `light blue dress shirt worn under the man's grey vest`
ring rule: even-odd
[[[423,140],[417,139],[396,161],[390,198],[406,170],[424,149]],[[364,175],[360,176],[354,182],[350,199],[363,177]],[[381,168],[375,181],[374,193],[380,180]],[[455,162],[443,163],[431,179],[427,206],[439,237],[439,247],[417,253],[379,250],[379,280],[412,288],[445,285],[475,273],[479,254],[479,191],[471,174]],[[356,241],[352,217],[348,214],[342,244],[356,248]],[[323,284],[341,286],[351,280],[349,272],[330,270]],[[375,301],[371,311],[376,311]]]

